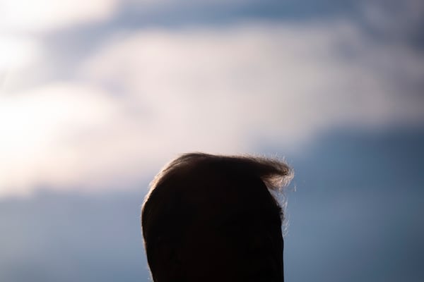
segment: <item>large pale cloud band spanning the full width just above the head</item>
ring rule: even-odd
[[[343,21],[114,35],[77,81],[1,98],[0,187],[126,187],[182,152],[301,149],[331,128],[422,124],[423,66]]]

